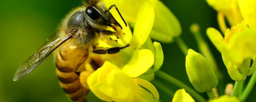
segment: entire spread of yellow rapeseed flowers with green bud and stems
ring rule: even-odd
[[[159,0],[103,0],[107,6],[115,4],[128,22],[128,27],[116,29],[118,38],[111,36],[110,40],[102,40],[98,47],[130,47],[122,49],[113,55],[101,55],[104,64],[94,72],[82,72],[81,84],[90,89],[98,98],[104,101],[159,101],[156,87],[150,83],[155,75],[179,86],[172,99],[173,102],[206,101],[198,92],[206,92],[209,102],[239,102],[236,96],[239,83],[256,70],[256,2],[253,0],[206,0],[218,11],[218,21],[221,31],[215,28],[206,30],[207,36],[221,53],[229,76],[237,81],[231,88],[231,95],[219,97],[217,85],[222,73],[210,53],[210,49],[199,32],[199,26],[193,25],[191,31],[196,37],[200,52],[206,58],[188,47],[184,47],[179,37],[181,27],[172,12]],[[249,6],[248,6],[249,5]],[[110,11],[118,17],[116,11]],[[225,24],[227,18],[229,25]],[[168,19],[168,20],[167,20]],[[121,22],[121,18],[116,18]],[[243,21],[242,21],[243,20]],[[124,24],[121,24],[124,26]],[[164,27],[163,27],[164,26]],[[130,28],[131,27],[131,28]],[[166,29],[168,28],[168,29]],[[132,30],[131,30],[132,29]],[[191,84],[196,91],[177,79],[159,71],[163,64],[163,49],[159,42],[170,43],[174,38],[186,56],[186,71]],[[253,63],[251,61],[254,61]],[[252,65],[251,65],[252,63]],[[215,75],[216,73],[216,75]],[[217,88],[216,88],[217,87]],[[186,91],[188,91],[188,93]],[[224,90],[224,89],[223,89]],[[193,98],[190,96],[192,95]]]

